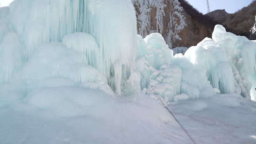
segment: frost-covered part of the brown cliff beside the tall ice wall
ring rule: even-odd
[[[138,34],[146,37],[157,32],[165,37],[169,47],[181,41],[181,31],[187,26],[185,13],[178,0],[131,0],[137,11]]]

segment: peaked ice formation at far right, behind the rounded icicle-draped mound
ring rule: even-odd
[[[251,87],[251,82],[254,83],[252,77],[256,73],[256,44],[244,36],[226,32],[220,25],[215,27],[212,37],[224,47],[233,70],[236,88],[241,90],[238,94],[250,99],[250,89],[255,89],[255,86]],[[255,97],[253,93],[251,95]]]

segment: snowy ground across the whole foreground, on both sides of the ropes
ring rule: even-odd
[[[1,144],[192,144],[170,114],[143,94],[122,99],[100,90],[46,88],[0,105]],[[198,144],[256,143],[255,102],[215,95],[168,107]]]

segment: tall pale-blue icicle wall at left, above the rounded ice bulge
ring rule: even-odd
[[[136,56],[136,15],[129,0],[15,0],[9,19],[25,59],[42,43],[63,40],[85,54],[121,95],[121,85],[132,73],[128,58]]]

